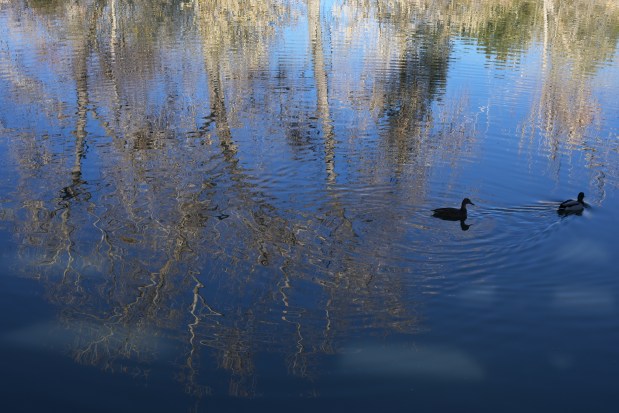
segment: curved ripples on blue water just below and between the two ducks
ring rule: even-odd
[[[470,207],[466,220],[470,227],[465,231],[460,222],[419,211],[415,218],[423,220],[423,226],[412,231],[410,248],[435,263],[435,271],[453,277],[519,275],[548,262],[549,257],[539,251],[548,248],[561,224],[556,205],[488,208],[484,203],[480,199]]]

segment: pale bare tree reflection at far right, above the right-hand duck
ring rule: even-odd
[[[619,12],[603,2],[566,5],[544,0],[538,13],[543,21],[542,80],[530,115],[522,124],[522,145],[539,133],[555,168],[561,153],[587,149],[590,165],[605,164],[608,153],[592,151],[587,135],[597,126],[601,108],[592,81],[601,62],[615,53]],[[595,44],[596,47],[587,45]],[[601,145],[605,147],[607,145]],[[598,173],[600,193],[604,178]]]

